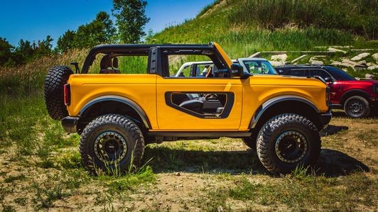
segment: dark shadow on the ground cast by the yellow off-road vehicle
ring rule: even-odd
[[[154,172],[267,174],[256,152],[172,150],[168,147],[146,147],[144,162],[151,160]],[[369,172],[369,167],[338,150],[322,149],[313,167],[317,175],[336,177],[352,172]]]

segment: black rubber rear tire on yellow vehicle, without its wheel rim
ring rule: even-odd
[[[95,140],[104,132],[115,132],[126,142],[126,155],[114,164],[102,162],[95,153]],[[135,169],[141,163],[144,154],[144,137],[138,125],[126,116],[107,114],[95,118],[82,131],[80,137],[80,155],[82,163],[94,175],[99,170],[105,174],[118,174],[129,170],[130,165]],[[131,164],[132,162],[132,164]]]

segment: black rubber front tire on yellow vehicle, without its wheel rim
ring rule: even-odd
[[[281,135],[294,132],[301,135],[306,143],[306,153],[303,153],[298,162],[284,162],[279,158],[276,145]],[[257,135],[257,155],[261,163],[274,174],[291,172],[298,165],[308,167],[313,164],[320,155],[321,141],[318,129],[307,118],[293,113],[284,113],[274,116],[267,121]],[[304,151],[303,151],[304,152]]]

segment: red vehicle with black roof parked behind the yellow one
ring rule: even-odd
[[[330,87],[333,108],[344,109],[351,118],[362,118],[370,112],[377,112],[377,80],[357,80],[342,69],[329,65],[284,65],[275,69],[281,75],[323,78]]]

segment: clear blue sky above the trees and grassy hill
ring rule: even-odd
[[[151,20],[145,30],[156,33],[166,26],[194,18],[214,0],[148,0],[146,16]],[[95,19],[99,11],[111,13],[112,0],[5,0],[1,1],[0,37],[18,45],[23,40],[43,40],[51,35],[56,40],[66,30]],[[114,21],[114,18],[113,18]]]

